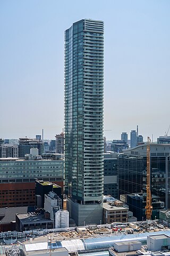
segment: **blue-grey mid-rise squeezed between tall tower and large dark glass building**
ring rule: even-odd
[[[104,154],[104,195],[118,198],[117,154],[114,152]]]

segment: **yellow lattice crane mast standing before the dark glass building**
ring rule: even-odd
[[[152,215],[152,196],[150,191],[150,138],[147,139],[147,199],[146,199],[146,219],[147,223],[150,224]]]

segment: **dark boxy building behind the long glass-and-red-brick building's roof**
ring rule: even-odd
[[[38,148],[38,155],[44,153],[44,143],[42,140],[20,138],[19,139],[19,157],[24,158],[25,154],[30,154],[31,148]]]

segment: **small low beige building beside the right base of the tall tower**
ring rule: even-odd
[[[121,201],[108,201],[103,204],[103,223],[128,222],[129,208],[123,206]]]

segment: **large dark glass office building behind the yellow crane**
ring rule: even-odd
[[[169,145],[150,144],[150,172],[152,218],[159,218],[159,210],[170,207],[170,148]],[[147,145],[127,149],[118,156],[119,194],[129,195],[126,203],[138,220],[145,219],[147,183]],[[129,201],[128,201],[129,200]],[[133,205],[133,207],[131,207]],[[140,218],[140,219],[139,219]]]

